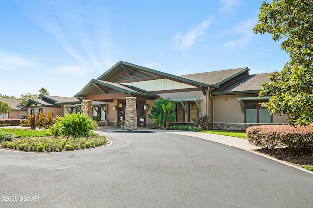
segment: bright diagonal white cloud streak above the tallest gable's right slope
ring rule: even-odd
[[[208,19],[202,21],[199,25],[193,26],[185,34],[178,33],[175,35],[175,48],[181,51],[189,50],[200,37],[206,33],[207,27],[212,23],[214,17],[211,15]]]

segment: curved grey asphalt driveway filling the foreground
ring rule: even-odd
[[[251,152],[166,132],[103,134],[111,146],[0,150],[0,196],[18,199],[0,207],[313,206],[312,174]]]

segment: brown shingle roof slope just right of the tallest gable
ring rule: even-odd
[[[212,71],[212,72],[203,72],[197,74],[186,74],[179,77],[183,77],[189,80],[206,83],[209,85],[217,85],[227,81],[232,77],[241,74],[245,71],[248,71],[248,68],[237,68],[237,69],[227,69],[221,71]]]

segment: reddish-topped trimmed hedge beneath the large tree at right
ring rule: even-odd
[[[288,146],[289,150],[313,146],[313,126],[260,125],[246,129],[250,144],[261,148]]]

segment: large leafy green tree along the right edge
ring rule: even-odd
[[[268,102],[271,115],[285,114],[290,125],[313,123],[313,0],[264,1],[255,33],[272,34],[274,41],[284,39],[281,48],[290,61],[280,72],[262,84],[259,96],[272,96]]]

